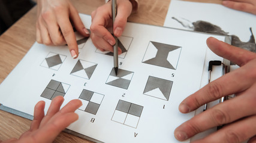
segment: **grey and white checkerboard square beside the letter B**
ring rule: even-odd
[[[79,97],[79,100],[82,101],[83,105],[79,107],[79,110],[86,111],[91,114],[96,114],[100,108],[103,98],[104,95],[102,94],[83,89]]]

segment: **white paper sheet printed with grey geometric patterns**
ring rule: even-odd
[[[88,28],[91,17],[80,16]],[[79,45],[76,60],[67,46],[35,43],[1,83],[0,102],[32,115],[40,100],[47,111],[47,98],[57,93],[64,95],[64,105],[83,102],[79,120],[68,127],[75,132],[102,142],[178,142],[174,129],[194,116],[179,113],[178,106],[200,89],[209,36],[128,23],[119,38],[127,49],[119,57],[119,77],[110,75],[113,57],[90,38]]]

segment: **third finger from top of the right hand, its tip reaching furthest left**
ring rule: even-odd
[[[256,88],[256,86],[252,88]],[[252,88],[251,90],[255,90]],[[246,91],[243,94],[249,95],[250,92],[251,91]],[[179,141],[183,141],[204,130],[234,122],[242,117],[254,115],[256,109],[252,109],[255,108],[255,101],[253,101],[253,99],[254,95],[246,97],[239,96],[232,100],[227,100],[222,104],[218,104],[180,125],[174,131],[174,135]],[[254,133],[255,132],[256,129]],[[243,136],[243,138],[249,138],[251,136]]]

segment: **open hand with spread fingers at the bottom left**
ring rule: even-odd
[[[7,141],[0,142],[53,142],[62,130],[79,118],[74,111],[82,105],[82,102],[80,100],[72,100],[60,110],[63,101],[63,97],[55,97],[50,104],[46,116],[44,116],[45,102],[39,101],[37,105],[35,105],[34,120],[32,120],[30,129],[23,133],[19,139],[12,138]]]

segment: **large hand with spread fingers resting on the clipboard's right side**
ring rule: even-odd
[[[256,54],[215,38],[208,38],[207,45],[215,54],[233,61],[240,68],[210,82],[183,100],[179,105],[180,112],[189,113],[227,95],[236,94],[236,97],[192,117],[175,129],[174,136],[183,141],[204,130],[225,125],[195,142],[242,142],[249,138],[255,142]]]

